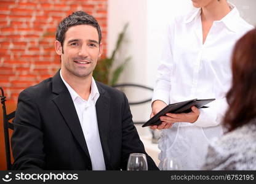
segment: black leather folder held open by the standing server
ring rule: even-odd
[[[207,108],[204,105],[214,100],[215,99],[191,99],[189,101],[169,104],[166,107],[164,107],[164,109],[159,111],[156,115],[154,115],[152,118],[150,118],[150,120],[146,121],[146,123],[144,123],[142,127],[160,125],[162,123],[160,117],[166,115],[166,113],[188,113],[191,112],[191,107],[193,106],[197,107],[198,109]]]

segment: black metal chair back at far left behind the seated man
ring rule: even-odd
[[[10,120],[15,117],[15,111],[9,114],[6,113],[6,96],[4,96],[4,90],[0,87],[1,90],[1,104],[2,104],[2,117],[3,117],[3,125],[4,125],[4,144],[6,146],[6,164],[7,170],[10,170],[12,167],[12,163],[10,161],[10,137],[9,137],[9,129],[14,129],[14,125],[10,123]]]

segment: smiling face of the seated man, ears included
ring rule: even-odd
[[[91,77],[97,59],[102,54],[102,44],[98,44],[96,28],[90,25],[77,25],[66,31],[63,48],[60,42],[55,41],[55,50],[62,58],[63,75]]]

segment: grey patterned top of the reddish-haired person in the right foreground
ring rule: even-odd
[[[210,144],[204,170],[256,170],[256,120]]]

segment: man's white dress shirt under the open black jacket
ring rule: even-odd
[[[95,104],[97,102],[100,93],[98,92],[97,85],[92,77],[92,84],[89,99],[86,101],[82,99],[76,91],[71,88],[68,83],[63,79],[62,72],[60,71],[60,77],[68,88],[71,98],[78,113],[78,118],[81,123],[82,132],[86,139],[87,148],[90,154],[90,160],[92,161],[92,170],[103,171],[106,170],[102,144],[100,142],[100,134],[98,133],[98,121]]]

